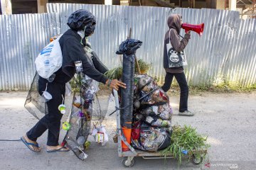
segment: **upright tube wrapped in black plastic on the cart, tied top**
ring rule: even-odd
[[[121,126],[132,128],[132,110],[134,100],[134,72],[135,72],[135,52],[142,45],[142,42],[134,39],[127,39],[119,45],[117,54],[123,54],[122,81],[126,84],[126,89],[121,90],[120,112]]]

